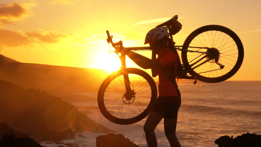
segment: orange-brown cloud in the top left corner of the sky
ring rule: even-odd
[[[18,2],[1,4],[0,5],[0,26],[2,24],[9,24],[13,21],[18,21],[24,17],[31,16],[32,12],[27,8],[33,6],[33,3],[26,3],[25,6],[20,5]]]

